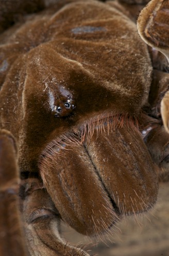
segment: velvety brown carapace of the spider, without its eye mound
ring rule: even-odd
[[[85,13],[83,19],[82,10]],[[76,18],[71,13],[76,13]],[[66,18],[63,18],[63,14]],[[60,24],[63,19],[65,21]],[[123,23],[118,23],[118,20]],[[72,31],[80,26],[100,27],[100,32]],[[30,34],[27,33],[29,27]],[[38,155],[48,141],[62,134],[65,129],[70,130],[103,111],[105,115],[111,116],[119,113],[138,115],[140,107],[147,99],[151,65],[146,46],[135,31],[135,25],[120,12],[102,3],[95,4],[90,1],[67,5],[50,19],[43,15],[43,22],[42,19],[36,22],[33,20],[26,27],[22,26],[14,38],[8,39],[9,48],[5,52],[11,52],[12,48],[15,61],[11,54],[8,60],[8,53],[2,48],[4,59],[9,63],[4,73],[8,72],[10,62],[14,61],[2,88],[2,126],[12,130],[14,136],[20,140],[19,162],[23,170],[35,169]],[[120,40],[122,36],[124,39]],[[131,40],[136,44],[136,50],[127,54]],[[16,58],[18,52],[20,57]],[[133,58],[134,63],[131,61]],[[81,65],[81,62],[84,64]],[[13,75],[20,84],[20,95],[17,87],[12,86],[15,82]],[[9,115],[12,106],[8,99],[11,98],[9,83],[12,83],[11,100],[15,105],[15,115],[12,116]],[[65,88],[66,94],[72,94],[76,99],[74,115],[66,119],[55,119],[49,106],[49,90],[56,98],[55,104],[61,104],[57,102],[57,97],[63,97],[62,101],[66,102],[66,95],[59,91],[60,88]],[[10,104],[6,107],[9,101]]]

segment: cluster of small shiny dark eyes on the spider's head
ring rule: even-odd
[[[62,98],[57,101],[56,105],[52,109],[52,113],[56,118],[69,116],[75,108],[74,99],[71,95]]]

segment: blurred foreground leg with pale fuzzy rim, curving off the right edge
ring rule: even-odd
[[[162,52],[169,62],[169,2],[153,0],[142,10],[138,19],[138,30],[142,39],[151,47]],[[169,92],[161,101],[161,116],[169,132]]]

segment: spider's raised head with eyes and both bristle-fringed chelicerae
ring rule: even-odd
[[[29,56],[20,166],[37,168],[62,219],[80,233],[102,234],[148,210],[158,178],[134,119],[142,88],[134,95],[47,46]]]

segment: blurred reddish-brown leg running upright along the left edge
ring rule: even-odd
[[[0,131],[0,255],[26,256],[19,210],[19,172],[13,136]]]

